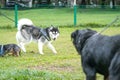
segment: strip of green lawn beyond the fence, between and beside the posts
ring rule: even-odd
[[[111,9],[105,6],[91,7],[91,5],[77,6],[76,25],[77,26],[105,26],[116,16],[119,16],[119,6]],[[41,7],[18,7],[18,17],[15,17],[15,8],[0,9],[0,26],[14,27],[16,19],[29,18],[36,26],[73,26],[74,8],[59,6],[41,6]],[[17,22],[16,22],[17,23]],[[115,25],[119,26],[120,23]]]

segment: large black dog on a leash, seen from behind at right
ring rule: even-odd
[[[84,29],[74,31],[71,38],[81,55],[86,80],[96,80],[96,73],[104,80],[120,80],[120,35],[105,36]]]

